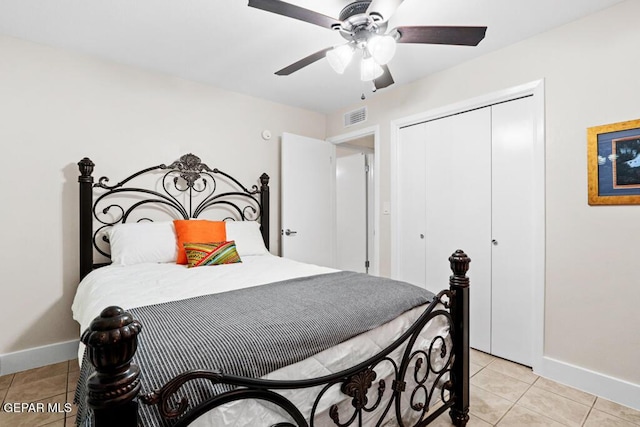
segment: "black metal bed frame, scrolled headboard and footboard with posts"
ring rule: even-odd
[[[100,178],[97,184],[93,184],[94,164],[88,158],[82,159],[78,166],[80,169],[81,277],[93,268],[104,265],[93,262],[94,248],[103,255],[107,255],[99,248],[99,231],[104,227],[126,222],[135,209],[149,203],[169,206],[185,219],[197,217],[203,210],[214,205],[229,206],[231,203],[234,205],[232,209],[238,214],[240,220],[250,219],[249,216],[251,219],[261,219],[262,235],[265,244],[268,245],[269,177],[265,174],[260,177],[259,190],[257,186],[248,190],[235,178],[217,169],[210,169],[201,163],[198,157],[187,154],[169,166],[159,165],[143,169],[118,184],[109,186],[106,184],[108,179],[105,177]],[[134,178],[152,171],[164,174],[161,179],[164,192],[126,186]],[[240,190],[215,194],[214,174],[220,174],[231,180]],[[207,179],[213,183],[213,191],[206,193],[203,201],[192,209],[193,192],[203,193],[207,185],[211,185],[206,184]],[[202,184],[203,180],[204,184]],[[183,186],[178,185],[180,181]],[[200,187],[196,185],[199,181]],[[169,185],[172,185],[173,189],[189,193],[188,209],[172,196],[170,191],[167,191]],[[95,202],[93,201],[94,187],[105,190]],[[136,200],[126,209],[116,203],[107,204],[101,211],[97,208],[105,197],[122,193],[148,195],[150,198]],[[229,195],[248,197],[253,202],[247,206],[239,206],[235,202],[228,201]],[[106,214],[115,208],[120,212],[115,220],[105,221],[99,218],[100,213]],[[94,218],[102,224],[96,232],[93,231]],[[388,420],[388,417],[392,417],[399,426],[404,427],[406,424],[402,419],[402,397],[405,393],[410,393],[410,409],[418,416],[413,426],[425,426],[449,410],[452,423],[464,427],[469,420],[469,279],[466,273],[470,259],[463,251],[458,250],[449,258],[449,262],[453,272],[449,278],[449,288],[441,291],[425,308],[419,319],[397,340],[356,366],[312,379],[265,380],[229,375],[220,371],[193,370],[171,379],[159,390],[140,395],[140,370],[131,361],[137,349],[137,335],[141,332],[142,325],[123,309],[108,307],[81,336],[81,341],[87,346],[87,357],[95,367],[95,373],[90,376],[87,384],[87,403],[93,410],[93,425],[95,427],[137,427],[138,405],[142,403],[157,406],[161,416],[171,421],[171,425],[183,427],[205,412],[226,403],[255,399],[271,402],[294,420],[294,423],[280,422],[271,427],[313,427],[320,400],[330,388],[339,387],[345,398],[351,398],[353,412],[349,414],[346,421],[342,421],[338,406],[332,405],[329,408],[329,417],[338,427],[347,427],[354,423],[362,426],[364,412],[375,413],[378,420],[376,426]],[[438,317],[447,322],[449,335],[432,338],[428,349],[414,348],[421,331],[430,321]],[[176,322],[179,321],[180,319],[176,319]],[[449,342],[451,348],[448,348]],[[405,347],[401,351],[401,360],[393,360],[389,355],[403,345]],[[433,363],[434,360],[439,360],[439,363]],[[384,379],[376,383],[378,375],[376,368],[383,363],[393,366],[394,373],[390,387]],[[412,370],[409,369],[411,364],[414,365]],[[195,379],[206,379],[214,384],[227,384],[235,388],[205,402],[198,402],[187,411],[188,402],[179,396],[179,389],[186,382]],[[289,399],[278,392],[318,386],[322,386],[322,389],[314,400],[309,420]],[[408,386],[413,390],[407,390]],[[373,388],[376,390],[371,391]],[[176,397],[178,403],[172,404],[176,402]],[[431,404],[438,397],[442,400],[442,404],[432,409]]]

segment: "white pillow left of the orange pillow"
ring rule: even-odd
[[[176,262],[178,258],[173,221],[117,224],[107,235],[113,264]]]

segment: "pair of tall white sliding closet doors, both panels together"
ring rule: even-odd
[[[401,278],[442,289],[451,274],[442,260],[465,250],[471,346],[529,366],[534,117],[526,97],[403,128],[395,212]]]

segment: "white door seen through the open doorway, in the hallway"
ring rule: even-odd
[[[336,268],[366,273],[367,173],[365,155],[336,159]]]

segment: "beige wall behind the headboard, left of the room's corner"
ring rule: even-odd
[[[0,117],[0,355],[78,337],[82,157],[113,178],[187,152],[247,184],[266,172],[277,253],[279,137],[325,136],[322,114],[2,36]]]

